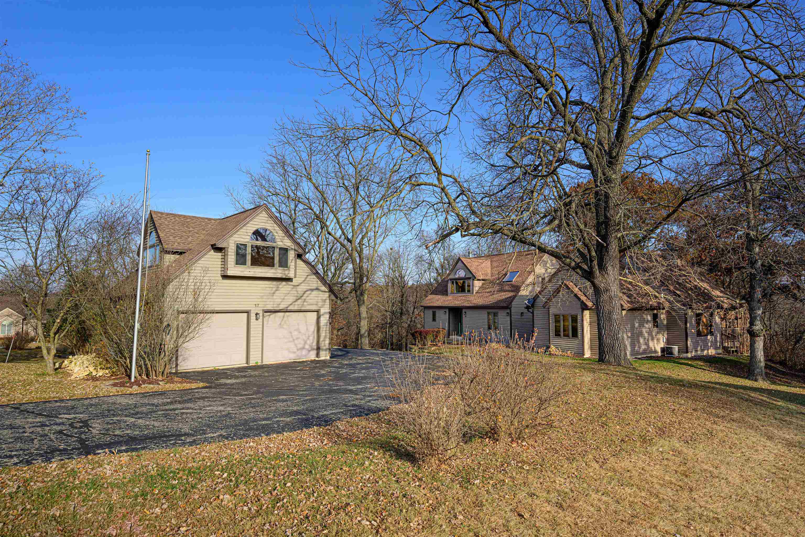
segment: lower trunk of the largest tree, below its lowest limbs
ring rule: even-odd
[[[621,310],[620,275],[609,271],[592,285],[598,314],[598,361],[612,366],[631,366]]]

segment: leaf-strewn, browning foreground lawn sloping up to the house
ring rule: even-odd
[[[527,444],[440,468],[394,408],[326,428],[0,470],[0,535],[803,535],[805,384],[741,358],[556,359],[568,394]],[[784,381],[784,382],[783,382]]]

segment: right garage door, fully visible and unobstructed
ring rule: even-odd
[[[315,358],[316,312],[266,312],[262,324],[262,361]]]

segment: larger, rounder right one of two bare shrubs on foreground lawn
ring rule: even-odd
[[[550,362],[518,347],[469,344],[445,366],[476,432],[519,441],[551,427],[550,408],[564,381]]]

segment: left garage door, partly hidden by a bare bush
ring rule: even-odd
[[[246,363],[249,314],[214,313],[209,326],[179,353],[179,370]]]

